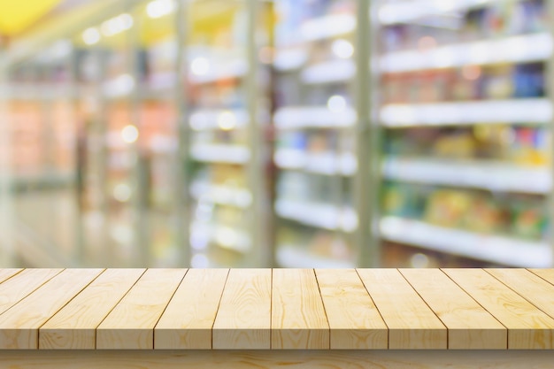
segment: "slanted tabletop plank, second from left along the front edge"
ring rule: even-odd
[[[39,331],[39,349],[93,350],[96,327],[145,269],[108,269],[73,298]]]

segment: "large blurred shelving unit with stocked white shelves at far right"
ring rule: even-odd
[[[551,266],[549,2],[376,6],[383,253]]]

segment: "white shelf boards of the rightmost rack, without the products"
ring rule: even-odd
[[[502,0],[458,0],[452,2],[383,2],[376,11],[379,27],[413,23],[447,12],[483,8]],[[552,19],[554,6],[545,2],[546,17]],[[424,24],[424,23],[420,23]],[[550,29],[550,28],[549,28]],[[384,104],[379,109],[381,129],[409,127],[464,127],[511,122],[522,127],[548,127],[551,135],[552,70],[554,62],[551,30],[525,35],[494,37],[489,40],[442,44],[428,50],[400,50],[377,59],[378,73],[418,73],[469,65],[509,65],[543,62],[545,96],[507,100],[484,100],[434,104]],[[375,53],[378,55],[378,53]],[[551,156],[551,153],[550,153]],[[450,188],[478,188],[493,192],[545,196],[549,205],[550,232],[542,241],[512,235],[474,233],[465,229],[439,227],[419,219],[381,215],[380,238],[422,250],[471,258],[493,265],[551,267],[554,265],[554,236],[551,226],[551,165],[531,166],[491,160],[450,160],[444,158],[381,158],[382,180],[442,185]],[[382,181],[381,180],[381,181]],[[417,252],[414,250],[414,252]]]

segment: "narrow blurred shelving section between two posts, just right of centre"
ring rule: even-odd
[[[356,265],[355,1],[275,2],[278,265]]]

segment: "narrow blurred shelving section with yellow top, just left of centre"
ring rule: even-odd
[[[271,4],[187,4],[190,264],[268,265],[264,178]],[[264,49],[265,48],[265,49]]]

